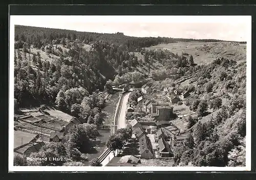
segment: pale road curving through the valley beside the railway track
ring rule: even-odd
[[[130,95],[130,93],[127,93],[123,97],[122,107],[121,107],[120,114],[119,114],[119,117],[118,117],[118,124],[117,124],[118,125],[117,126],[118,129],[124,128],[126,126],[126,123],[125,123],[125,113],[126,113],[126,109],[127,109],[127,102],[128,102],[129,95]],[[117,109],[116,109],[116,111],[117,111]],[[115,154],[117,154],[117,151],[115,152]],[[108,164],[113,158],[114,158],[114,154],[113,154],[113,152],[111,152],[101,162],[102,166],[105,166],[106,164]]]

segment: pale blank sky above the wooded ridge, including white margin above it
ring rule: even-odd
[[[10,25],[174,37],[247,41],[250,16],[11,16]]]

